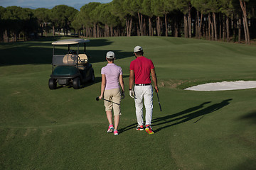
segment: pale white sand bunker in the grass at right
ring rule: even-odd
[[[227,91],[239,89],[253,89],[256,88],[256,81],[222,81],[218,83],[200,84],[192,86],[185,90],[191,91]]]

